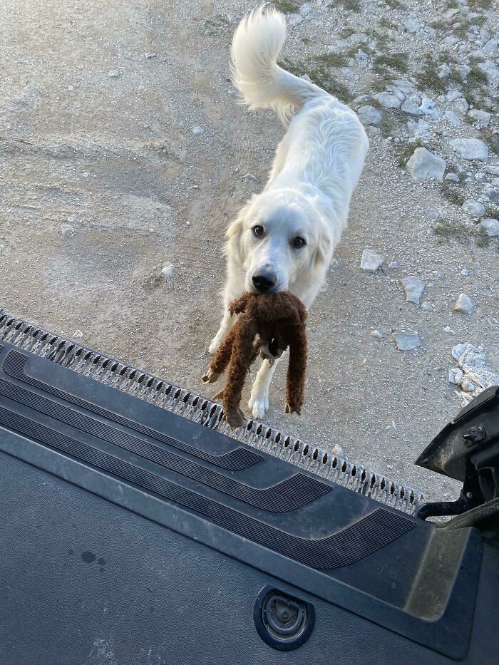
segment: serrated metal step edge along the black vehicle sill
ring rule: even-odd
[[[344,488],[390,505],[408,515],[412,515],[418,505],[424,501],[421,492],[404,487],[391,478],[368,471],[359,464],[291,438],[252,419],[247,421],[245,427],[231,431],[227,423],[222,420],[220,404],[32,326],[23,319],[9,316],[1,310],[0,341],[14,344],[19,349],[177,413],[203,427],[252,445],[264,453],[286,460],[321,478],[332,480]]]

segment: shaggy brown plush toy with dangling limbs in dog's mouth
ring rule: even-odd
[[[307,310],[304,304],[289,292],[244,293],[232,302],[229,311],[232,316],[239,314],[237,321],[202,377],[205,383],[214,383],[229,365],[227,384],[215,396],[222,399],[227,423],[235,428],[245,421],[240,409],[241,393],[246,374],[257,355],[261,354],[272,364],[288,346],[286,413],[300,413],[307,366]]]

